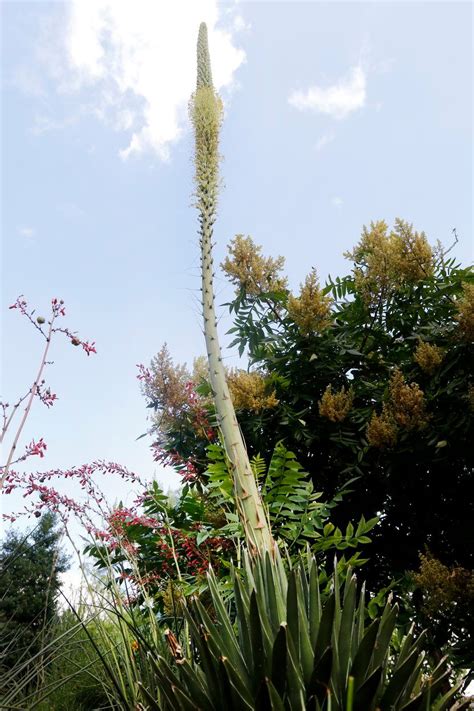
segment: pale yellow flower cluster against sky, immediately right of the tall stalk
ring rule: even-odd
[[[251,237],[236,235],[228,247],[229,256],[221,264],[230,281],[251,296],[283,291],[287,280],[281,276],[284,257],[263,257],[262,248]]]

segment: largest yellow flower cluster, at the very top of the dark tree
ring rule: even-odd
[[[400,219],[391,232],[383,220],[364,227],[360,242],[345,256],[355,262],[356,287],[369,304],[404,283],[426,279],[435,261],[425,234]]]

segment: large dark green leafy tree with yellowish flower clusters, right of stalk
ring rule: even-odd
[[[390,234],[372,225],[350,257],[352,273],[323,290],[332,323],[318,333],[301,333],[288,291],[242,287],[230,304],[233,344],[271,373],[278,400],[238,413],[249,452],[267,458],[284,441],[326,499],[356,477],[332,518],[344,529],[354,514],[380,516],[372,588],[416,569],[425,546],[472,570],[474,273],[402,221]],[[323,398],[337,406],[349,390],[349,411],[331,419]]]

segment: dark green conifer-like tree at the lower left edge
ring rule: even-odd
[[[38,652],[56,617],[59,576],[68,560],[55,525],[45,513],[32,531],[10,531],[1,544],[0,663],[6,667]]]

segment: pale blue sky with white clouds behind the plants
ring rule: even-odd
[[[98,350],[54,344],[59,400],[36,403],[23,437],[48,444],[35,469],[106,459],[176,485],[136,441],[135,365],[165,341],[180,362],[203,352],[186,114],[201,19],[226,106],[219,261],[250,234],[296,289],[313,266],[342,273],[363,224],[397,216],[433,242],[455,227],[472,261],[470,3],[7,1],[2,15],[2,395],[29,387],[42,347],[8,310],[18,294],[38,313],[63,298]]]

